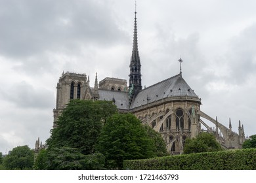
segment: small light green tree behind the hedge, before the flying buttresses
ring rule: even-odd
[[[184,154],[198,152],[213,152],[222,150],[219,142],[211,133],[200,133],[195,138],[186,139],[184,144]]]

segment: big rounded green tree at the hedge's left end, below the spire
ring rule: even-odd
[[[154,141],[133,114],[114,114],[108,118],[96,150],[104,154],[110,169],[121,169],[125,159],[156,157]]]

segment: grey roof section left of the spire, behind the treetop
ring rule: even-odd
[[[114,100],[117,108],[121,110],[129,109],[129,98],[128,98],[127,92],[98,89],[98,94],[100,95],[100,100],[106,100],[106,101]]]

